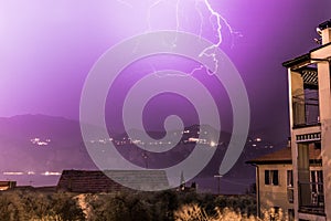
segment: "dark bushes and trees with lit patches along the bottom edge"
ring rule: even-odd
[[[266,218],[282,220],[280,215]],[[266,220],[268,220],[266,219]],[[15,221],[218,221],[258,220],[252,196],[195,192],[46,193],[3,191],[0,220]]]

